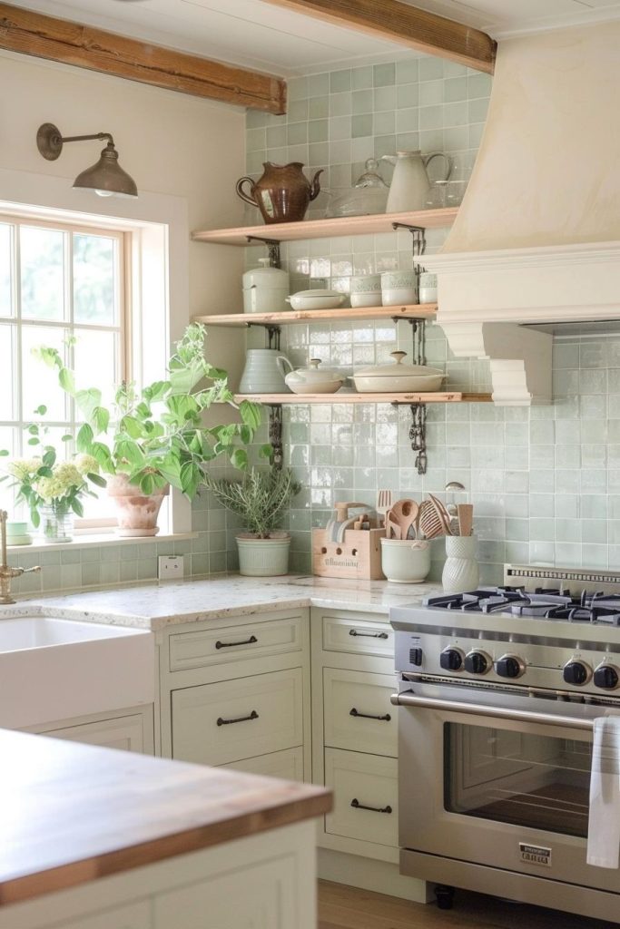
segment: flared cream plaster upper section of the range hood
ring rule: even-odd
[[[620,22],[500,42],[442,252],[620,240]]]

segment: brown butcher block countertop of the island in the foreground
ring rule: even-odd
[[[0,758],[0,914],[331,808],[309,784],[6,729]]]

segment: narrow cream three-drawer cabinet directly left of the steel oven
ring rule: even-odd
[[[320,844],[398,861],[394,638],[388,616],[312,609],[312,762],[334,791]]]

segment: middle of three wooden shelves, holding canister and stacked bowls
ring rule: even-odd
[[[228,313],[221,316],[194,316],[194,322],[207,326],[284,326],[294,322],[347,322],[348,320],[432,320],[436,303],[408,304],[403,307],[337,307],[336,309],[292,309],[284,313]]]

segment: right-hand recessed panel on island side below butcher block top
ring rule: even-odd
[[[157,896],[153,929],[296,929],[295,865],[276,858]]]

